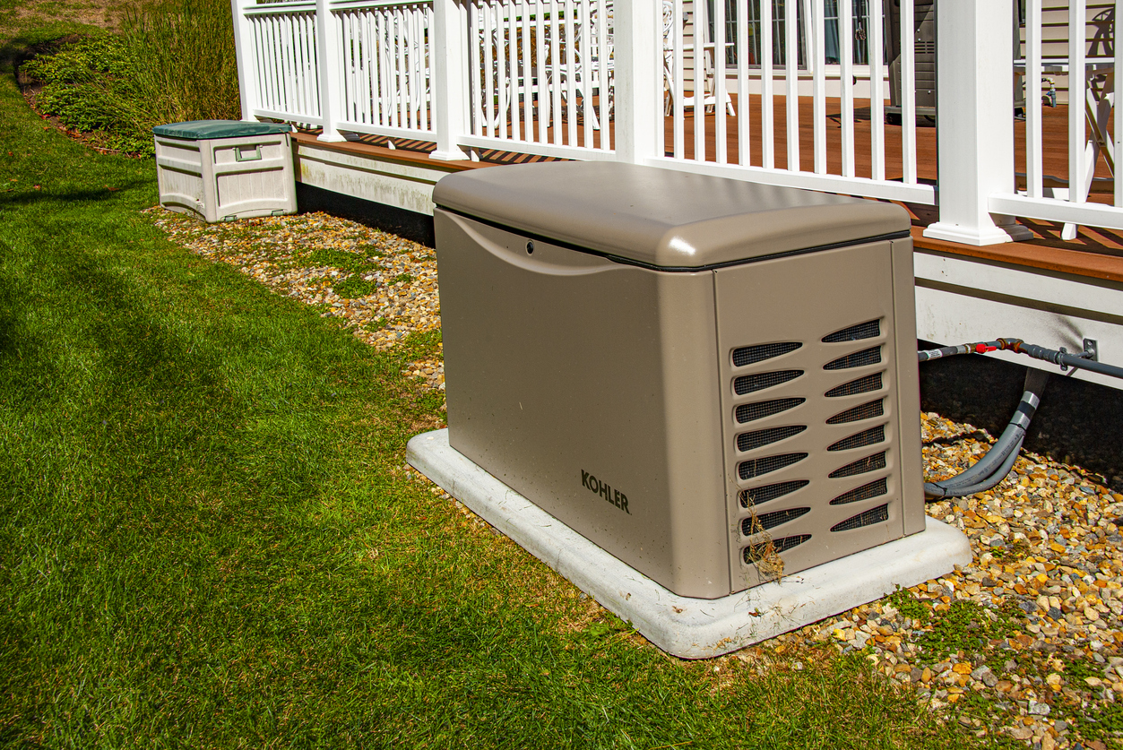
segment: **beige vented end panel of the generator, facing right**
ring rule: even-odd
[[[715,274],[734,589],[904,534],[893,271],[883,241]]]

